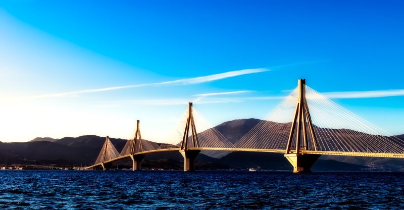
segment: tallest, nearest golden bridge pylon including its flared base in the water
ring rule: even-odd
[[[319,154],[305,154],[302,150],[310,149],[317,151],[316,133],[313,127],[309,106],[306,100],[306,80],[298,80],[298,97],[294,112],[292,126],[286,145],[285,157],[292,164],[293,172],[310,172],[312,166],[320,157]],[[310,136],[308,136],[308,130]],[[309,137],[311,142],[309,143]],[[294,143],[294,150],[292,149]]]

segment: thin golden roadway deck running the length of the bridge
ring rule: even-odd
[[[286,149],[253,149],[253,148],[211,148],[211,147],[189,147],[187,150],[220,150],[220,151],[254,151],[254,152],[274,152],[274,153],[285,153]],[[170,149],[156,149],[149,151],[136,152],[134,155],[138,154],[148,154],[156,152],[165,151],[180,151],[180,148],[170,148]],[[314,150],[301,150],[301,154],[317,154],[317,155],[343,155],[343,156],[366,156],[366,157],[377,157],[377,158],[404,158],[404,153],[372,153],[372,152],[347,152],[347,151],[314,151]],[[115,159],[111,159],[104,163],[94,164],[92,166],[84,168],[84,170],[90,170],[101,166],[102,164],[113,163],[125,158],[129,158],[132,154],[126,154],[119,156]]]

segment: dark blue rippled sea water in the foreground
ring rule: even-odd
[[[5,209],[404,208],[404,173],[0,171]]]

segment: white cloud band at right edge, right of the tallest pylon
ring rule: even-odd
[[[377,98],[389,96],[404,96],[401,90],[371,90],[371,91],[347,91],[347,92],[323,92],[328,98]]]

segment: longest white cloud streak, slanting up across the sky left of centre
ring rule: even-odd
[[[134,84],[134,85],[115,86],[115,87],[106,87],[106,88],[98,88],[98,89],[77,90],[77,91],[62,92],[62,93],[34,95],[34,96],[28,96],[26,98],[47,98],[47,97],[72,96],[72,95],[78,95],[78,94],[84,94],[84,93],[104,92],[104,91],[145,87],[145,86],[198,84],[198,83],[205,83],[205,82],[226,79],[226,78],[230,78],[230,77],[236,77],[236,76],[245,75],[245,74],[254,74],[254,73],[260,73],[260,72],[266,72],[266,71],[270,71],[270,70],[265,69],[265,68],[243,69],[243,70],[237,70],[237,71],[224,72],[224,73],[220,73],[220,74],[212,74],[212,75],[208,75],[208,76],[193,77],[193,78],[187,78],[187,79],[178,79],[178,80],[165,81],[165,82]]]

